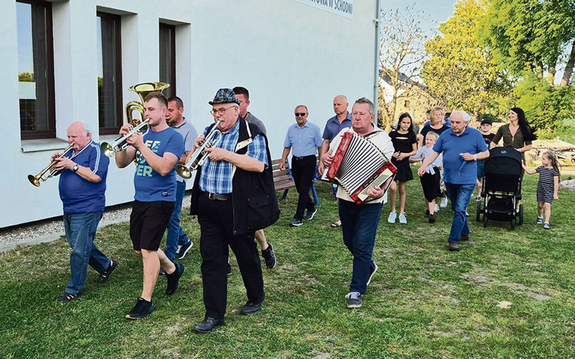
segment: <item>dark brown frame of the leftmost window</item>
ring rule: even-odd
[[[16,2],[26,3],[32,6],[44,7],[46,11],[46,88],[47,88],[47,130],[22,130],[20,129],[21,140],[37,140],[40,138],[56,138],[56,103],[54,86],[54,36],[52,23],[52,3],[42,0],[16,0]],[[35,82],[35,81],[34,81]],[[20,95],[18,95],[18,109],[20,109]]]

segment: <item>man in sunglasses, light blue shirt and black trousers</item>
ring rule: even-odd
[[[299,105],[295,110],[296,124],[289,126],[283,141],[282,159],[279,161],[279,169],[286,169],[287,155],[292,150],[292,175],[299,194],[296,214],[293,216],[290,226],[301,226],[302,219],[312,219],[316,214],[315,202],[309,196],[312,187],[313,176],[316,172],[316,153],[321,148],[320,128],[308,122],[308,107]],[[304,210],[308,213],[304,216]]]

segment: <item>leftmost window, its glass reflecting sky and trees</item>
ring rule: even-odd
[[[18,99],[22,140],[56,137],[52,4],[16,3]]]

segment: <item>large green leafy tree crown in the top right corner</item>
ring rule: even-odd
[[[553,84],[565,66],[567,86],[575,64],[575,0],[491,0],[480,40],[516,76],[529,71]]]

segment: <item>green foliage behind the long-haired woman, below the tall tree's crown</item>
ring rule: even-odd
[[[513,90],[531,126],[541,138],[553,138],[567,130],[575,118],[575,86],[555,87],[526,74]]]

